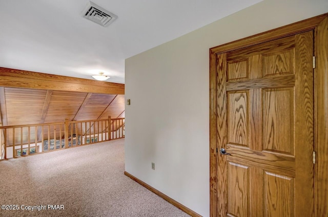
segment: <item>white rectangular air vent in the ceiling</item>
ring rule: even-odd
[[[107,27],[117,18],[115,14],[101,8],[93,2],[89,2],[83,10],[83,17],[90,19],[103,27]]]

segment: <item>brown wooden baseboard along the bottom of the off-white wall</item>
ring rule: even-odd
[[[161,197],[162,199],[166,200],[167,202],[171,203],[173,206],[176,206],[177,208],[181,209],[182,211],[186,212],[187,214],[190,214],[193,217],[201,217],[200,214],[194,212],[193,210],[189,209],[186,206],[183,206],[182,204],[180,204],[179,202],[173,200],[172,198],[170,198],[169,196],[163,194],[162,192],[160,192],[159,190],[153,188],[152,186],[150,186],[149,184],[141,181],[140,179],[132,176],[131,174],[129,174],[128,172],[124,172],[124,175],[126,175],[127,177],[129,177],[130,179],[136,181],[137,183],[139,183],[140,185],[146,187],[148,190],[154,192],[156,195],[158,195],[159,197]]]

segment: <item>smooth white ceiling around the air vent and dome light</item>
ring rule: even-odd
[[[262,0],[93,0],[108,27],[82,17],[87,0],[0,0],[0,67],[124,83],[124,61]]]

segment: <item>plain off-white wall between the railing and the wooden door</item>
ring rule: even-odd
[[[127,59],[126,171],[209,216],[210,47],[326,12],[327,0],[265,0]]]

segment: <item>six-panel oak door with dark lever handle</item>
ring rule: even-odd
[[[219,216],[314,216],[313,31],[215,64]]]

